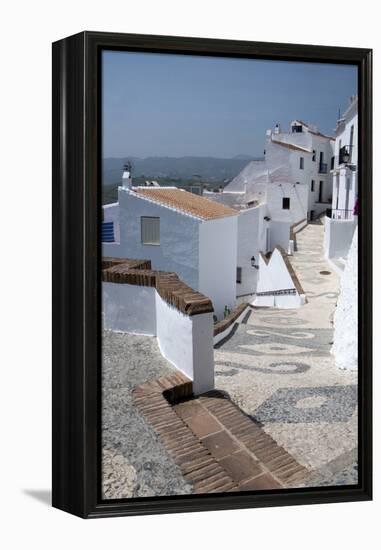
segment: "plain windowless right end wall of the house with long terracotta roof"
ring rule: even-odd
[[[229,216],[199,224],[199,281],[198,286],[193,288],[212,300],[219,319],[226,305],[229,308],[235,306],[237,217]]]

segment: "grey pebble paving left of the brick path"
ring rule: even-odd
[[[191,485],[133,401],[137,385],[175,372],[156,338],[105,330],[102,356],[103,498],[190,493]]]

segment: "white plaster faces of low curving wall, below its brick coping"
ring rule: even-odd
[[[185,315],[154,287],[103,282],[102,290],[106,329],[156,336],[162,355],[193,381],[195,394],[214,388],[212,313]]]

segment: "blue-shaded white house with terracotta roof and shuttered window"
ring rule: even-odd
[[[175,187],[132,187],[126,173],[118,198],[120,239],[103,242],[103,256],[147,258],[176,273],[218,318],[235,306],[236,210]]]

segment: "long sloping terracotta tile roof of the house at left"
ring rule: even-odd
[[[200,197],[176,187],[139,188],[132,189],[140,197],[152,200],[163,206],[174,208],[179,212],[196,216],[203,220],[214,220],[227,216],[238,215],[238,211],[223,204]]]

